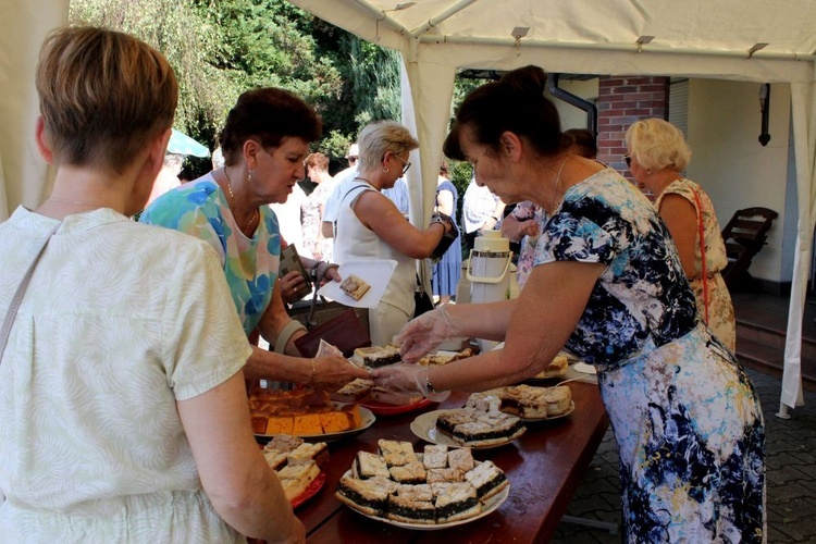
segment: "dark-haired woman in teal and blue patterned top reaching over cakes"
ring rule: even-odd
[[[268,206],[285,202],[305,176],[309,143],[321,134],[314,110],[277,88],[244,92],[226,118],[219,141],[224,166],[154,200],[139,221],[175,228],[207,242],[218,254],[244,332],[256,331],[274,347],[252,346],[249,379],[292,381],[335,391],[368,373],[341,356],[307,360],[294,341],[306,332],[283,306],[277,271],[281,230]],[[335,265],[317,262],[317,279]],[[207,294],[202,294],[207,296]]]

